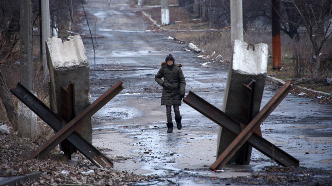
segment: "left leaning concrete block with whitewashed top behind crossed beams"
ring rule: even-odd
[[[53,112],[61,113],[60,86],[75,86],[75,108],[79,115],[90,102],[89,63],[83,41],[79,35],[68,41],[52,37],[46,41],[47,64],[50,73],[50,105]],[[91,119],[83,123],[83,138],[92,143]]]

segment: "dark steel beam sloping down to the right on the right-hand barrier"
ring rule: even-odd
[[[193,107],[195,110],[208,117],[221,127],[225,127],[235,134],[241,133],[242,130],[239,121],[228,116],[195,93],[190,91],[189,94],[183,99],[183,102]],[[255,133],[251,135],[247,141],[258,151],[282,166],[291,167],[299,165],[299,161],[297,159],[293,158],[266,139],[259,137]]]

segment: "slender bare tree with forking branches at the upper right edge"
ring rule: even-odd
[[[332,0],[289,0],[293,4],[313,48],[313,78],[318,78],[320,51],[324,42],[332,34]],[[297,24],[297,23],[294,23]]]

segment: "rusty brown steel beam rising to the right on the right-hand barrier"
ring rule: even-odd
[[[221,153],[217,160],[210,166],[210,169],[221,169],[236,151],[250,138],[254,133],[254,128],[263,123],[263,121],[272,113],[280,102],[291,91],[291,82],[287,81],[280,90],[271,98],[264,108],[249,122],[242,132],[233,140],[231,144]]]

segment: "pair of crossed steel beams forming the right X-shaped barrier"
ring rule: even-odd
[[[254,128],[259,126],[290,92],[292,89],[290,84],[291,82],[287,81],[247,126],[228,116],[195,93],[191,91],[189,92],[189,94],[183,99],[184,103],[193,107],[204,116],[207,116],[218,125],[225,127],[238,135],[210,166],[211,170],[221,169],[246,141],[258,151],[283,166],[299,166],[299,161],[297,159],[254,132]],[[243,127],[243,130],[241,129],[241,126]]]

